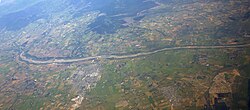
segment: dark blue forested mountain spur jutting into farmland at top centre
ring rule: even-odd
[[[145,0],[107,0],[105,2],[95,0],[91,1],[91,3],[92,5],[89,9],[83,9],[80,13],[86,10],[98,10],[106,14],[98,17],[93,23],[88,25],[91,31],[99,34],[110,34],[120,28],[125,28],[126,26],[123,26],[125,17],[135,17],[134,20],[141,20],[144,16],[138,18],[138,13],[156,6],[154,2]]]

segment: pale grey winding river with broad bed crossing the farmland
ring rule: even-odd
[[[183,47],[170,47],[170,48],[163,48],[158,49],[150,52],[141,52],[135,53],[130,55],[100,55],[100,56],[91,56],[91,57],[84,57],[84,58],[75,58],[75,59],[52,59],[52,60],[34,60],[32,58],[28,58],[24,55],[24,52],[20,54],[20,59],[22,61],[26,61],[32,64],[52,64],[52,63],[73,63],[73,62],[81,62],[81,61],[88,61],[88,60],[98,60],[98,59],[126,59],[126,58],[135,58],[141,57],[146,55],[155,54],[162,51],[168,50],[179,50],[179,49],[220,49],[220,48],[243,48],[250,46],[248,44],[238,44],[238,45],[220,45],[220,46],[183,46]]]

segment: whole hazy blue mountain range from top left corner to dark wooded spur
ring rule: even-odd
[[[138,17],[138,13],[154,6],[153,1],[146,0],[5,0],[0,5],[0,29],[19,30],[38,19],[74,7],[75,18],[90,11],[105,13],[106,16],[96,19],[89,28],[100,34],[113,33],[124,27],[124,17]]]

